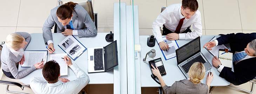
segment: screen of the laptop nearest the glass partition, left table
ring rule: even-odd
[[[105,57],[105,68],[107,68],[107,70],[110,70],[118,65],[116,41],[105,47]]]

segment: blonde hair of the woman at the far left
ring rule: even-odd
[[[23,43],[23,40],[23,37],[19,34],[12,33],[6,37],[5,45],[9,48],[16,50],[21,47],[20,45]]]

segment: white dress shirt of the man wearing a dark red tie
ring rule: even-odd
[[[167,29],[174,32],[181,18],[184,18],[181,14],[181,3],[168,6],[160,15],[157,16],[156,20],[152,24],[152,31],[158,43],[163,41],[160,27],[164,24]],[[182,33],[192,24],[194,31]],[[198,36],[202,36],[201,13],[199,10],[197,10],[190,19],[184,19],[181,27],[181,33],[179,33],[179,39],[194,39]]]

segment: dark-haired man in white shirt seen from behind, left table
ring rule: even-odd
[[[89,82],[89,77],[76,64],[72,64],[69,57],[65,56],[66,64],[74,71],[77,79],[69,81],[60,77],[60,66],[52,60],[48,61],[43,69],[44,78],[32,78],[31,89],[36,94],[78,94]]]

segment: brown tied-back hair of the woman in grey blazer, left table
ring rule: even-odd
[[[74,2],[67,2],[64,5],[61,5],[56,12],[56,15],[61,19],[67,19],[67,18],[71,18],[73,11],[74,11],[74,7],[75,5],[78,3],[74,3]]]

